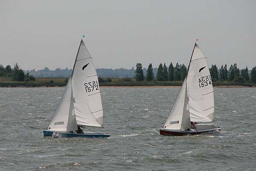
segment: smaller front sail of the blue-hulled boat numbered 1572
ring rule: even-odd
[[[55,110],[52,120],[48,126],[48,130],[55,131],[75,131],[77,130],[76,116],[73,105],[73,91],[71,78],[69,79],[61,101]]]

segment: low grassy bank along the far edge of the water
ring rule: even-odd
[[[36,78],[35,81],[20,82],[12,81],[8,77],[0,77],[0,87],[62,87],[65,86],[66,78]],[[182,81],[124,81],[123,78],[111,78],[111,82],[101,82],[100,86],[181,86]],[[213,86],[246,86],[256,87],[256,84],[245,82],[215,81]]]

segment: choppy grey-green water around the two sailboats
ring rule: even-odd
[[[0,88],[0,171],[256,170],[256,89],[215,88],[221,132],[159,135],[179,88],[102,88],[110,138],[43,137],[64,88]]]

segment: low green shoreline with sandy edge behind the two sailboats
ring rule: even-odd
[[[12,81],[11,78],[0,77],[0,87],[64,87],[67,78],[36,78],[35,81]],[[111,78],[110,82],[104,80],[99,82],[100,87],[106,88],[177,88],[182,85],[183,81],[124,81],[122,78]],[[214,81],[213,86],[216,88],[245,88],[256,87],[255,83],[250,82],[233,82],[233,81]]]

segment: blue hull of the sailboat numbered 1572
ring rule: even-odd
[[[86,137],[86,138],[104,138],[109,137],[109,134],[95,133],[95,132],[84,132],[84,133],[70,133],[62,131],[43,130],[44,136],[52,137]]]

